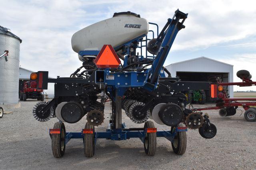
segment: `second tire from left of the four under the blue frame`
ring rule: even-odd
[[[93,129],[93,133],[84,134],[84,155],[90,158],[94,156],[94,150],[95,150],[94,126],[86,123],[84,129]]]

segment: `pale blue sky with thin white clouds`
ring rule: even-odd
[[[71,37],[79,29],[124,11],[140,14],[162,29],[179,8],[188,13],[186,28],[178,33],[165,65],[204,56],[234,65],[234,81],[239,81],[235,73],[240,69],[256,78],[255,0],[0,0],[0,4],[0,25],[23,40],[20,65],[48,70],[51,77],[68,76],[82,64],[71,47]],[[241,89],[256,90],[234,87]]]

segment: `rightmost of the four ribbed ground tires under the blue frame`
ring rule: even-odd
[[[179,123],[177,127],[185,127],[185,125],[183,123]],[[171,128],[172,133],[174,133],[174,128],[176,127]],[[185,131],[177,132],[172,142],[172,150],[176,154],[184,154],[186,151],[186,147],[187,147],[186,132]]]

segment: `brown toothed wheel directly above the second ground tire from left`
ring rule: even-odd
[[[101,125],[104,121],[104,114],[99,110],[92,110],[87,113],[87,123],[89,125],[98,126]]]

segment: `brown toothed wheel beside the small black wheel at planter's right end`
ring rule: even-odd
[[[204,118],[200,113],[190,113],[186,118],[186,126],[189,129],[198,129],[204,123]]]

